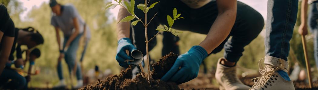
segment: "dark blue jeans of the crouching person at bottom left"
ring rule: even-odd
[[[9,82],[9,79],[11,81]],[[5,68],[0,76],[0,87],[1,89],[24,89],[26,86],[25,77],[21,76],[17,71]]]

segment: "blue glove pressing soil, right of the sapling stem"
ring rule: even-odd
[[[176,82],[181,84],[197,77],[199,67],[208,53],[201,46],[193,46],[187,53],[180,55],[171,69],[162,76],[165,82]],[[179,70],[179,67],[181,69]]]

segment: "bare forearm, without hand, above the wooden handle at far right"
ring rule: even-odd
[[[301,1],[301,24],[307,25],[308,0]]]

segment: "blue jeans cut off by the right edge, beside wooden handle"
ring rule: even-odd
[[[314,57],[318,68],[318,1],[311,3],[309,7],[308,25],[309,30],[314,34]]]

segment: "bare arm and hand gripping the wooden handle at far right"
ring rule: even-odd
[[[298,33],[301,35],[307,35],[307,9],[308,9],[308,0],[301,1],[301,25],[298,28]]]

